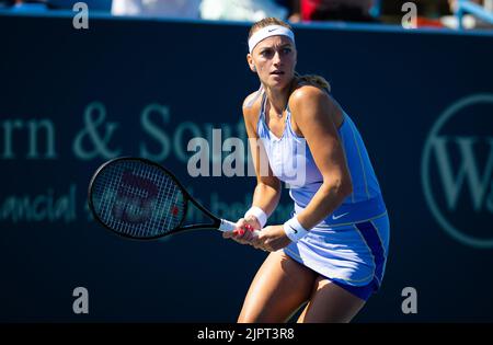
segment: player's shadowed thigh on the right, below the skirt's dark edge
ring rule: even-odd
[[[298,322],[349,322],[364,306],[363,299],[319,276]]]

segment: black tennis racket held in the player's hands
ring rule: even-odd
[[[190,203],[211,221],[184,225]],[[103,227],[138,240],[187,230],[237,228],[196,202],[169,170],[141,158],[116,158],[101,165],[89,184],[89,208]]]

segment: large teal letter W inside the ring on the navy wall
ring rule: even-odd
[[[489,138],[490,151],[486,165],[482,173],[478,170],[474,157],[474,137],[437,137],[434,148],[438,163],[438,172],[442,177],[447,206],[450,210],[457,206],[457,198],[465,183],[471,192],[472,205],[475,211],[481,211],[484,196],[492,181],[493,172],[493,138]],[[451,141],[458,146],[460,152],[460,166],[454,176],[447,143]]]

